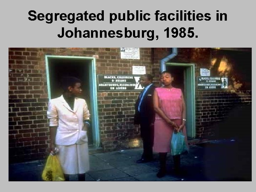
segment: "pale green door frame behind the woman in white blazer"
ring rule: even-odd
[[[97,103],[97,80],[96,80],[96,60],[94,57],[79,57],[79,56],[61,56],[61,55],[45,55],[46,60],[46,76],[47,76],[47,89],[48,89],[48,97],[51,99],[50,94],[50,76],[49,76],[49,62],[50,58],[59,58],[59,59],[86,59],[90,60],[91,63],[89,65],[89,85],[90,85],[90,103],[91,103],[91,111],[92,115],[92,138],[93,145],[95,148],[100,146],[100,135],[99,135],[99,126],[98,126],[98,103]]]

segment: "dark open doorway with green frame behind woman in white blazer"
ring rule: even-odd
[[[95,58],[46,55],[49,99],[62,95],[60,79],[75,76],[82,80],[82,96],[90,111],[91,129],[87,131],[89,148],[99,147]]]

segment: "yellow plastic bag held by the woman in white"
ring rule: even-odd
[[[65,181],[62,167],[56,155],[49,155],[42,173],[44,181]]]

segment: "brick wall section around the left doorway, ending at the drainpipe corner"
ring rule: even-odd
[[[140,48],[140,60],[121,59],[119,48],[9,48],[9,162],[42,159],[49,149],[46,116],[48,94],[45,55],[96,58],[97,74],[132,74],[133,65],[151,73],[151,48]],[[127,147],[139,139],[133,126],[139,92],[98,92],[103,149]]]

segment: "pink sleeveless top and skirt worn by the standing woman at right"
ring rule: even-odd
[[[167,117],[176,122],[178,126],[182,124],[182,91],[172,87],[166,89],[163,87],[156,88],[159,97],[159,106]],[[167,124],[157,113],[155,115],[154,145],[153,151],[158,153],[170,152],[170,142],[174,128]],[[186,136],[186,127],[182,133]]]

